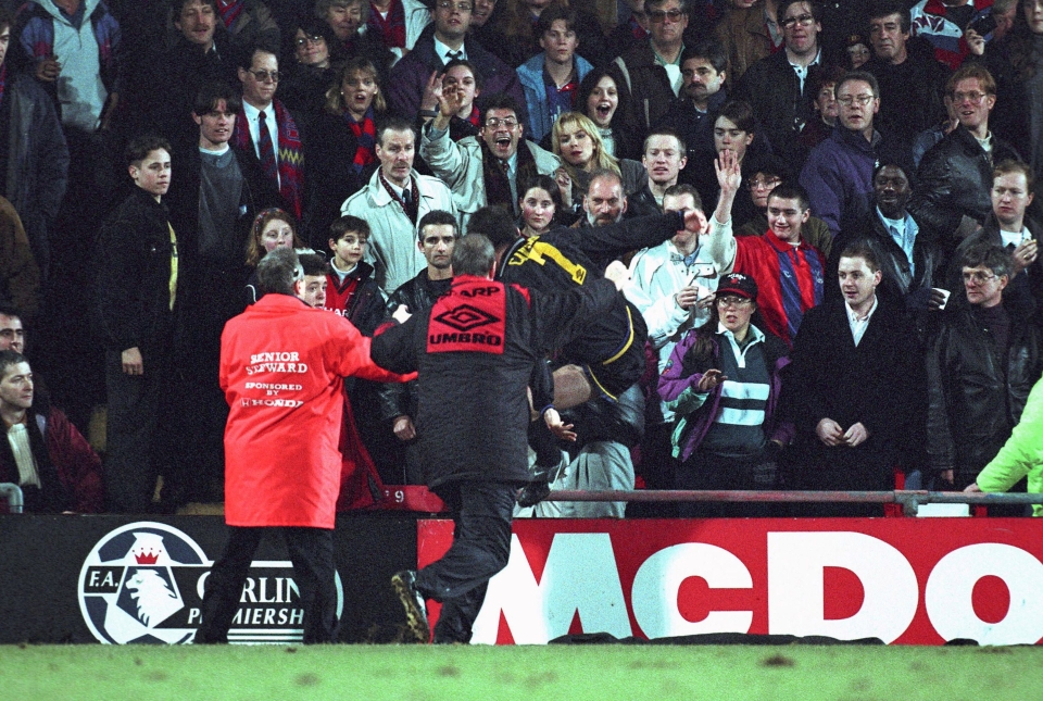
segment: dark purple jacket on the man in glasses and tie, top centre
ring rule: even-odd
[[[470,37],[464,39],[464,50],[467,52],[467,60],[481,72],[483,87],[478,98],[478,107],[481,107],[483,98],[506,92],[518,103],[518,121],[528,124],[525,93],[514,68],[486,51]],[[441,71],[443,65],[442,60],[435,53],[435,35],[424,33],[413,50],[391,68],[388,80],[388,104],[391,111],[406,120],[415,120],[420,110],[424,87],[431,73]]]

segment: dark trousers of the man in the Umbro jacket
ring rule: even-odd
[[[489,579],[507,566],[517,489],[501,481],[456,481],[435,489],[455,524],[449,551],[416,575],[420,593],[442,604],[435,642],[470,641]]]

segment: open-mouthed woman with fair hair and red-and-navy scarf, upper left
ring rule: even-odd
[[[315,250],[325,250],[329,225],[340,216],[340,205],[359,191],[377,167],[377,122],[387,103],[380,72],[365,58],[354,58],[340,70],[326,91],[326,110],[314,122],[318,138],[304,143],[312,197],[303,220],[305,238]]]

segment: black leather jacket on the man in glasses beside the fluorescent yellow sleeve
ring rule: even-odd
[[[954,470],[957,487],[973,481],[1010,437],[1043,373],[1039,318],[1004,304],[1010,316],[1006,358],[967,305],[946,312],[928,350],[927,450],[932,468]]]

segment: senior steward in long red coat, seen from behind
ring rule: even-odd
[[[332,528],[342,458],[343,378],[405,381],[369,360],[350,322],[293,297],[304,272],[279,249],[257,265],[264,297],[225,326],[221,387],[225,522],[231,534],[211,571],[199,642],[227,642],[264,527],[282,526],[304,606],[304,642],[337,640]]]

